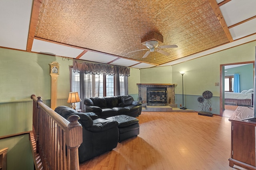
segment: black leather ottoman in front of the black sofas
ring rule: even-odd
[[[128,115],[117,115],[106,118],[107,120],[115,120],[118,122],[119,142],[130,137],[138,136],[140,134],[139,120]]]

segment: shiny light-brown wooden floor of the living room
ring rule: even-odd
[[[80,170],[244,170],[228,166],[228,117],[142,112],[137,118],[138,137],[80,164]]]

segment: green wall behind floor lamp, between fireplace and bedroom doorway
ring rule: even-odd
[[[246,61],[254,61],[255,59],[256,41],[233,47],[218,53],[213,53],[172,66],[172,83],[177,83],[175,89],[177,94],[177,103],[182,103],[182,76],[179,71],[186,71],[184,74],[184,103],[188,109],[198,110],[198,96],[202,96],[202,92],[210,90],[213,93],[212,111],[214,114],[220,114],[220,86],[215,86],[216,82],[220,82],[220,64],[240,63]],[[192,95],[188,98],[186,95]],[[180,95],[182,96],[182,95]],[[215,98],[217,97],[217,99]]]

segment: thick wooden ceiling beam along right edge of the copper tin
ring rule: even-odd
[[[226,24],[226,21],[224,20],[222,13],[220,11],[220,8],[216,2],[216,0],[209,0],[210,5],[212,6],[212,9],[216,15],[216,17],[218,18],[218,20],[220,21],[220,25],[222,26],[222,29],[224,30],[229,42],[233,42],[234,39],[231,36],[231,33],[228,29],[228,25]]]

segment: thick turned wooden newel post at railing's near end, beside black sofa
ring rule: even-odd
[[[66,145],[70,149],[70,167],[72,170],[79,170],[78,147],[83,142],[82,125],[78,123],[80,117],[71,115],[68,117],[68,131],[66,132]]]

